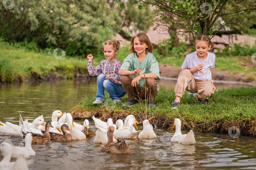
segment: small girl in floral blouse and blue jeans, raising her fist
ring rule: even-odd
[[[119,40],[107,40],[102,47],[102,51],[104,51],[104,55],[107,59],[103,59],[96,67],[93,65],[93,55],[87,55],[89,59],[87,62],[89,75],[98,76],[97,95],[93,104],[101,104],[102,100],[105,99],[104,90],[109,93],[109,97],[113,99],[113,102],[118,103],[121,102],[120,97],[126,94],[121,85],[121,76],[118,74],[122,65],[122,62],[116,58],[119,47]]]

